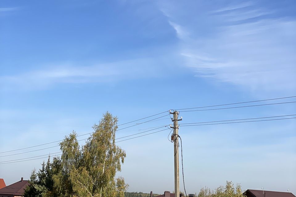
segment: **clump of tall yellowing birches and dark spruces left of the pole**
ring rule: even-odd
[[[122,177],[115,178],[126,157],[115,144],[117,117],[106,112],[93,129],[83,147],[75,132],[66,136],[60,143],[61,157],[43,162],[38,179],[32,172],[24,196],[124,197],[128,184]]]

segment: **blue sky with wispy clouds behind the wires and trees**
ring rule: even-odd
[[[294,96],[295,5],[1,1],[1,151],[59,140],[73,130],[91,132],[105,111],[120,124],[169,109]],[[279,102],[289,101],[295,99]],[[192,123],[290,115],[295,109],[290,103],[180,115],[182,123]],[[161,119],[117,136],[167,124],[170,119]],[[232,180],[243,189],[295,194],[295,128],[294,119],[180,127],[187,193]],[[173,191],[173,144],[167,135],[118,143],[127,153],[118,175],[129,191]],[[0,177],[7,184],[28,179],[41,161],[2,164]]]

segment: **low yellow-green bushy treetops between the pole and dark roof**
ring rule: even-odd
[[[241,185],[237,184],[236,188],[231,181],[226,181],[226,186],[220,186],[215,191],[208,187],[201,188],[197,197],[245,197],[241,191]]]

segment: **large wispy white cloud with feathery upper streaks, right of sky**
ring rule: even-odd
[[[253,4],[248,2],[219,9],[216,14],[205,11],[198,16],[202,19],[193,16],[195,26],[184,20],[189,17],[186,13],[174,10],[178,13],[175,18],[171,14],[168,22],[177,32],[185,65],[198,77],[233,83],[249,90],[295,91],[296,21],[265,17],[273,10],[262,11],[254,6],[236,10],[250,5]],[[178,18],[182,15],[185,16]],[[259,16],[264,17],[248,21]],[[215,25],[209,29],[209,35],[196,36],[207,20]]]

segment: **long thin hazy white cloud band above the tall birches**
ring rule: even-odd
[[[15,75],[0,76],[1,90],[44,89],[60,83],[108,83],[123,79],[156,77],[155,61],[144,58],[92,66],[58,64]]]

